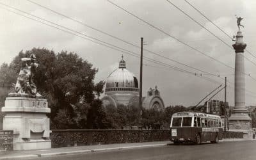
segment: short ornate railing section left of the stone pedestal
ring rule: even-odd
[[[13,131],[0,130],[0,150],[13,150]]]

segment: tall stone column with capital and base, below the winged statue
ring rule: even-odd
[[[236,44],[233,44],[236,51],[235,63],[235,107],[229,118],[230,131],[244,132],[244,137],[250,136],[251,118],[245,108],[245,81],[244,81],[244,49],[246,44],[243,42],[241,30],[237,31]]]

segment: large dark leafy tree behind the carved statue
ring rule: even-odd
[[[33,48],[26,52],[20,51],[9,66],[4,64],[1,67],[0,74],[4,76],[1,76],[0,83],[15,83],[21,66],[20,59],[30,54],[35,54],[39,63],[35,84],[38,92],[49,102],[49,116],[51,124],[54,124],[52,127],[86,129],[88,111],[99,103],[99,100],[95,102],[95,93],[99,97],[104,86],[102,81],[97,84],[93,82],[97,68],[74,52],[61,51],[55,54],[45,48]]]

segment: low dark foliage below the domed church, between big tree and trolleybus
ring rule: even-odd
[[[111,129],[131,129],[132,126],[140,126],[142,129],[168,129],[172,114],[185,110],[184,106],[169,106],[164,111],[123,105],[105,108]]]

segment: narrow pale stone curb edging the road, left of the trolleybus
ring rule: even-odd
[[[131,148],[143,148],[143,147],[161,147],[167,145],[167,143],[163,144],[155,144],[155,145],[137,145],[137,146],[129,146],[129,147],[113,147],[113,148],[99,148],[93,150],[74,150],[68,152],[53,152],[53,153],[45,153],[45,154],[29,154],[22,156],[10,156],[10,157],[0,157],[0,159],[25,159],[25,158],[35,158],[35,157],[50,157],[50,156],[61,156],[61,155],[72,155],[72,154],[88,154],[92,152],[104,152],[110,150],[122,150],[122,149],[131,149]]]

